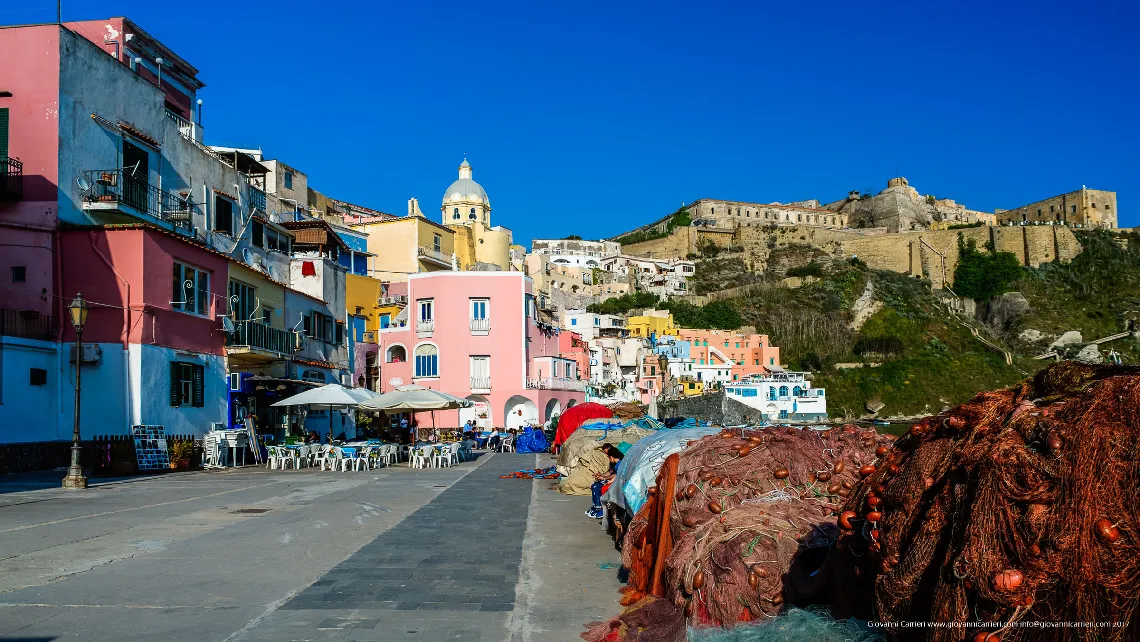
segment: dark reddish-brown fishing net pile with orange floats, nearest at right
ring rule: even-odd
[[[1134,639],[1138,495],[1140,368],[1061,363],[898,440],[840,514],[857,569],[841,591],[873,595],[885,621],[1008,623],[992,631],[1002,641]],[[1061,634],[1024,621],[1129,624]]]

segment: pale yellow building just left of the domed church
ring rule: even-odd
[[[409,274],[458,268],[455,233],[424,218],[416,200],[407,217],[355,219],[349,227],[368,235],[368,274],[380,281],[406,282]]]

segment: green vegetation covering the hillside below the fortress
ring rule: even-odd
[[[733,320],[727,310],[733,310],[740,325],[769,335],[787,367],[814,374],[814,384],[828,391],[832,417],[865,415],[869,403],[882,404],[880,417],[915,416],[1012,384],[1049,365],[1052,361],[1033,357],[1066,332],[1083,338],[1062,349],[1062,355],[1073,356],[1140,317],[1140,235],[1078,230],[1076,237],[1083,252],[1072,262],[1039,268],[1011,263],[1011,255],[990,247],[963,246],[955,290],[979,300],[977,319],[950,314],[926,279],[872,270],[857,259],[825,258],[806,246],[776,250],[766,271],[748,275],[724,254],[703,257],[698,262],[703,292],[752,286],[744,295],[705,308],[677,302],[658,307],[681,311],[675,320],[691,327],[726,327]],[[787,287],[784,276],[816,278]],[[1005,292],[1024,295],[1028,310],[997,323],[991,307]],[[601,308],[621,311],[611,302],[617,300]],[[703,325],[691,325],[694,317]],[[975,338],[970,325],[1010,350],[1013,365]],[[1140,342],[1133,338],[1099,348],[1101,355],[1114,350],[1124,363],[1140,363]]]

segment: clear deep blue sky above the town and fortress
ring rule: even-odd
[[[1114,189],[1140,225],[1134,2],[64,1],[112,15],[201,70],[207,143],[435,217],[466,154],[521,243],[896,171],[986,211]]]

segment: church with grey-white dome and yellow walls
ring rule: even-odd
[[[491,227],[491,201],[471,174],[471,163],[464,159],[459,178],[448,186],[440,206],[442,224],[455,231],[459,269],[470,270],[483,263],[510,270],[511,230]]]

